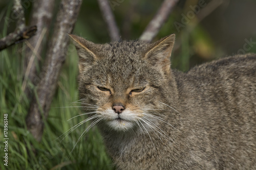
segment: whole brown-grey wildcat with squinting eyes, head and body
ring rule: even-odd
[[[184,73],[170,69],[174,34],[154,43],[70,37],[81,103],[117,169],[256,169],[255,54]]]

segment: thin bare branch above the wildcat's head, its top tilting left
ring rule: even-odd
[[[119,29],[116,25],[114,15],[111,11],[108,0],[98,0],[99,8],[101,10],[103,19],[108,25],[111,41],[117,41],[120,39]]]

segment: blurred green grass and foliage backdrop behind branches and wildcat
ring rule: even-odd
[[[32,0],[23,1],[26,22],[30,23]],[[7,21],[12,1],[0,1],[0,38],[15,30],[15,21]],[[112,10],[122,39],[138,39],[162,1],[113,0]],[[57,11],[59,1],[56,1]],[[195,14],[197,13],[197,14]],[[256,1],[198,1],[181,0],[170,14],[154,40],[176,34],[172,67],[182,71],[221,57],[256,52]],[[52,22],[52,29],[54,19]],[[53,30],[50,30],[52,32]],[[73,31],[96,43],[110,41],[97,1],[83,1]],[[48,41],[48,39],[44,39]],[[0,52],[0,168],[1,169],[114,169],[96,127],[93,127],[71,150],[89,123],[82,125],[61,141],[63,133],[86,116],[72,102],[78,100],[77,55],[70,45],[62,67],[58,87],[45,120],[40,143],[26,129],[25,117],[30,99],[24,96],[25,43],[13,45]],[[40,63],[44,63],[44,56]],[[37,65],[39,74],[41,65]],[[32,88],[36,90],[36,87]],[[4,166],[4,114],[8,114],[8,167]],[[34,154],[34,153],[37,154]]]

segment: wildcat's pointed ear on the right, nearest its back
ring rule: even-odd
[[[153,47],[145,55],[145,58],[164,72],[170,70],[170,54],[172,53],[175,41],[175,34],[164,37],[153,43]]]

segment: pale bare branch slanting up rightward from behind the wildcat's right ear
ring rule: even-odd
[[[150,42],[157,35],[163,23],[168,18],[170,12],[173,10],[179,0],[165,0],[154,18],[148,23],[146,29],[140,36],[140,40]]]

